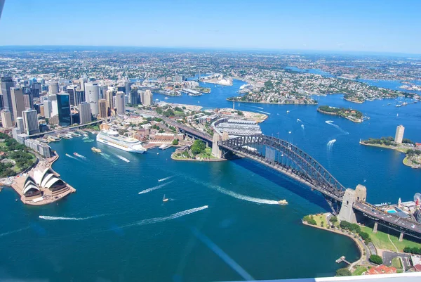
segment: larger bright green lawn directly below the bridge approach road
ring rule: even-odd
[[[371,240],[373,240],[373,244],[377,248],[385,249],[385,250],[392,250],[393,252],[395,251],[394,246],[389,241],[387,233],[384,233],[382,231],[377,231],[377,233],[373,233],[373,229],[371,229],[368,226],[362,227],[361,230],[370,234],[370,238],[371,238]],[[421,247],[420,243],[417,243],[417,242],[414,242],[414,241],[409,241],[405,238],[405,236],[403,236],[402,242],[399,242],[399,237],[394,236],[394,235],[390,235],[390,240],[392,240],[394,245],[396,245],[396,248],[398,248],[399,252],[402,252],[403,248],[405,248],[407,246],[410,247],[410,248],[413,248],[413,247],[420,248]]]

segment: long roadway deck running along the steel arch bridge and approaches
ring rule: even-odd
[[[199,132],[199,130],[193,129],[192,127],[187,127],[186,125],[175,122],[167,117],[156,117],[160,117],[162,120],[172,125],[173,127],[178,127],[179,129],[182,129],[183,132],[194,134],[200,137],[201,139],[212,142],[212,137],[208,134]],[[244,158],[249,158],[250,160],[259,162],[260,164],[270,167],[276,170],[277,172],[286,174],[288,177],[291,177],[292,179],[295,179],[296,181],[299,181],[300,183],[309,186],[313,190],[319,191],[325,197],[332,198],[334,200],[337,200],[338,202],[342,202],[343,194],[338,195],[337,193],[330,193],[330,191],[326,190],[326,187],[321,187],[317,185],[316,183],[314,183],[314,181],[312,181],[311,178],[307,177],[305,174],[302,174],[302,172],[299,172],[298,170],[292,169],[291,167],[288,167],[286,165],[282,165],[279,162],[267,160],[267,158],[265,158],[264,156],[256,155],[251,151],[249,153],[245,153],[244,151],[235,150],[222,144],[219,144],[219,146],[225,150],[230,150],[233,153],[236,153],[237,155],[241,155]],[[364,217],[368,217],[369,219],[372,219],[378,224],[387,226],[391,229],[394,229],[395,231],[403,232],[407,235],[421,239],[421,224],[419,224],[418,222],[403,219],[402,217],[399,217],[397,215],[383,212],[377,207],[370,205],[370,203],[356,202],[354,203],[353,207],[354,210],[361,212]]]

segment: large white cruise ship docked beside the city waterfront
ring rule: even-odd
[[[102,130],[97,135],[97,141],[126,152],[138,154],[146,152],[146,149],[143,148],[138,139],[119,136],[119,132],[114,130]]]

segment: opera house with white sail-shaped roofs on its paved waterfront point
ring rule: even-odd
[[[51,169],[51,163],[57,158],[58,155],[42,160],[29,173],[15,178],[12,188],[19,193],[23,203],[46,205],[76,192],[76,189],[60,179],[60,174]]]

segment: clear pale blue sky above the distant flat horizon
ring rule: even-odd
[[[6,0],[0,46],[420,54],[420,11],[420,0]]]

